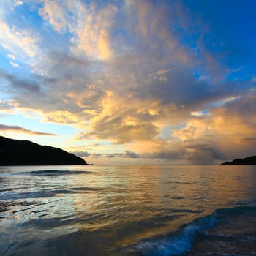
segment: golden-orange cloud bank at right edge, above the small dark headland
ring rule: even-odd
[[[209,115],[191,118],[185,127],[173,130],[172,136],[187,145],[198,158],[202,156],[201,151],[208,152],[211,159],[254,154],[255,99],[252,92],[212,108]],[[195,159],[195,154],[191,158]]]

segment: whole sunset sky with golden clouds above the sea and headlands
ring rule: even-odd
[[[256,154],[256,1],[0,1],[0,135],[94,164]]]

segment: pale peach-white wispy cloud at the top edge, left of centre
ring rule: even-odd
[[[53,11],[54,10],[54,11]],[[117,9],[114,5],[100,6],[80,1],[43,1],[39,15],[59,33],[72,34],[72,52],[76,56],[106,60],[112,57],[110,28]]]

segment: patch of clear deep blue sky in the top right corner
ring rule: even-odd
[[[184,1],[193,13],[197,12],[208,23],[208,49],[214,53],[226,53],[223,61],[229,67],[238,64],[244,74],[255,75],[255,1]],[[217,42],[221,42],[218,45]]]

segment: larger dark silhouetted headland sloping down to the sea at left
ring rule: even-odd
[[[87,165],[87,163],[84,159],[61,148],[0,136],[0,165]]]

